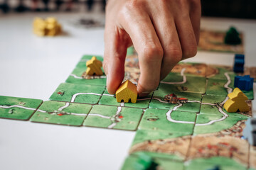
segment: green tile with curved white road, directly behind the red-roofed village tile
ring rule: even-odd
[[[181,75],[174,76],[173,74],[168,74],[167,77],[160,82],[160,84],[168,85],[171,91],[182,91],[182,92],[198,93],[198,94],[206,93],[205,77],[187,77],[186,75],[185,77],[186,79],[183,79]],[[175,82],[176,84],[173,84]]]

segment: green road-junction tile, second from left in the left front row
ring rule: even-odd
[[[32,122],[80,126],[91,105],[60,101],[45,101],[32,116]]]

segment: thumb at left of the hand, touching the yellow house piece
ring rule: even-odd
[[[105,52],[103,69],[107,75],[107,91],[115,94],[124,79],[124,61],[127,52],[127,37],[123,30],[112,25],[105,28]]]

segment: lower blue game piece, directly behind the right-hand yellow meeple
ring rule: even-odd
[[[250,91],[253,86],[253,78],[249,75],[245,75],[243,77],[236,76],[234,86],[238,87],[240,90]]]

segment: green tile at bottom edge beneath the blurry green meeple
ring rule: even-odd
[[[156,169],[161,170],[169,170],[169,169],[175,169],[175,170],[183,170],[183,162],[171,162],[170,160],[166,159],[159,159],[159,158],[152,158],[158,166],[156,166]],[[136,163],[139,161],[139,157],[135,156],[129,156],[127,159],[125,159],[124,164],[122,166],[122,170],[134,170],[136,169]]]

